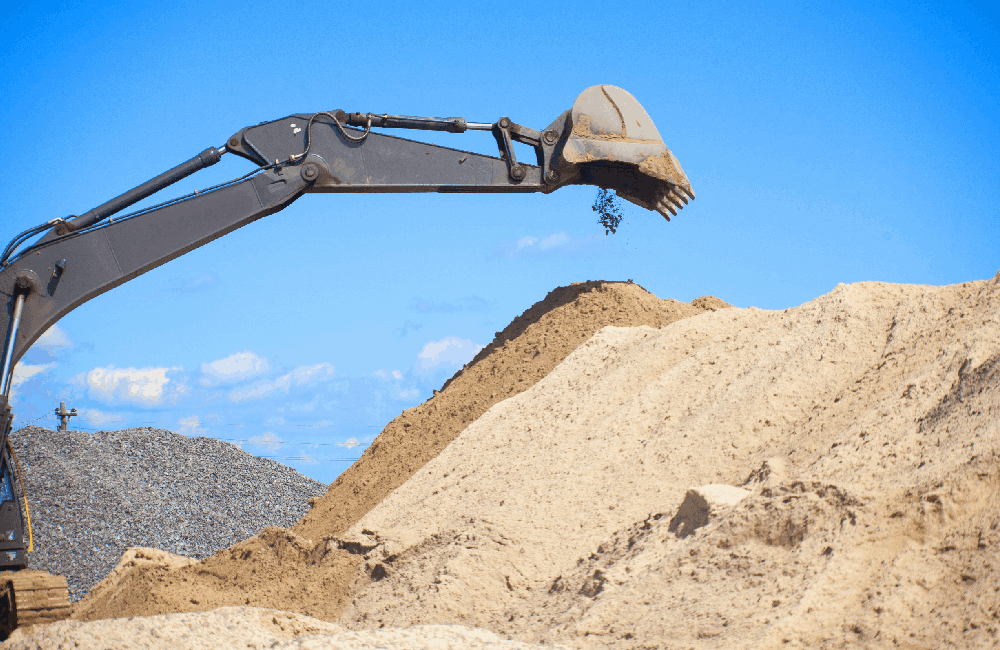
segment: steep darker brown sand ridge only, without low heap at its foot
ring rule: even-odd
[[[404,411],[293,527],[312,539],[347,530],[441,453],[491,406],[527,390],[605,325],[663,327],[730,305],[714,296],[661,300],[631,282],[559,287],[518,316],[444,388]]]

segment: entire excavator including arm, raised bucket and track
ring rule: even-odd
[[[499,155],[373,129],[489,131]],[[534,149],[534,164],[516,158],[515,142]],[[245,158],[254,168],[232,181],[121,214],[225,154]],[[0,254],[0,336],[6,336],[0,348],[0,637],[70,612],[66,579],[27,569],[34,544],[30,510],[9,439],[14,367],[60,318],[311,192],[548,194],[567,185],[613,190],[668,221],[694,199],[687,176],[639,102],[621,88],[597,85],[541,131],[508,117],[471,122],[343,110],[261,122],[89,212],[17,235]]]

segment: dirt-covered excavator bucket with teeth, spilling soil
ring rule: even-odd
[[[579,165],[583,180],[615,190],[647,210],[670,216],[694,199],[684,170],[663,144],[649,114],[617,86],[591,86],[570,111],[572,131],[563,147],[566,162]]]

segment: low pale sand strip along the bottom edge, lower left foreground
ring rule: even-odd
[[[4,650],[568,650],[503,639],[460,625],[354,632],[315,618],[256,607],[17,629]]]

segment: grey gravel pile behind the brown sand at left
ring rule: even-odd
[[[31,508],[29,568],[66,576],[74,601],[130,546],[202,559],[290,527],[327,488],[229,443],[162,429],[24,427],[11,441]]]

